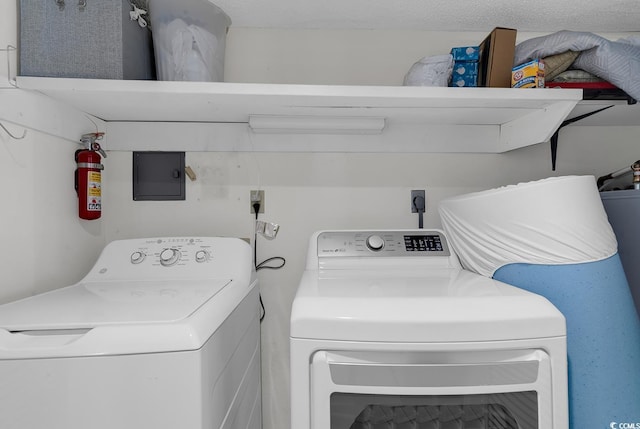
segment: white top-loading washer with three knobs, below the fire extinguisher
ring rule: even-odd
[[[235,238],[114,241],[79,283],[0,306],[0,427],[260,428],[252,267]]]

